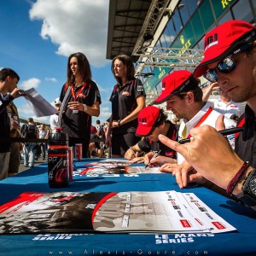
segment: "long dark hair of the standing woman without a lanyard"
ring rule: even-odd
[[[131,61],[131,57],[128,55],[117,55],[113,58],[112,60],[112,65],[111,65],[111,71],[113,73],[113,62],[115,60],[119,60],[122,61],[125,65],[125,78],[127,81],[133,80],[135,79],[134,75],[135,75],[135,68],[133,66],[133,62]],[[122,84],[122,80],[118,77],[114,77],[118,84]]]

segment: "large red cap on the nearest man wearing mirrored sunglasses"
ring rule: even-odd
[[[204,41],[204,58],[195,68],[195,78],[207,72],[207,64],[221,61],[238,46],[255,40],[255,27],[244,20],[229,20],[208,32]]]

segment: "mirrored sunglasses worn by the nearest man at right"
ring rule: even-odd
[[[214,83],[218,81],[218,72],[220,73],[231,73],[236,68],[236,62],[232,59],[232,56],[240,53],[241,51],[251,47],[253,43],[245,44],[241,46],[241,48],[236,49],[232,54],[228,55],[224,58],[223,61],[219,61],[218,65],[212,69],[208,69],[206,73],[204,73],[204,78]]]

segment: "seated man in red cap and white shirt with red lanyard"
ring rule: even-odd
[[[166,102],[166,108],[172,110],[178,119],[182,119],[178,138],[190,137],[190,130],[197,126],[211,125],[215,127],[221,113],[213,110],[209,102],[203,102],[199,80],[187,70],[178,70],[167,75],[162,81],[162,93],[154,104]],[[229,127],[235,127],[236,122],[225,118]],[[224,127],[223,127],[224,129]],[[183,156],[177,154],[177,165],[183,163]],[[168,165],[162,166],[162,171],[169,170]],[[171,171],[171,170],[169,170]]]

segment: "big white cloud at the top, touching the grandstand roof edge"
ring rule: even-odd
[[[57,54],[80,51],[95,67],[107,64],[108,1],[38,0],[29,14],[43,20],[41,37],[58,45]]]

